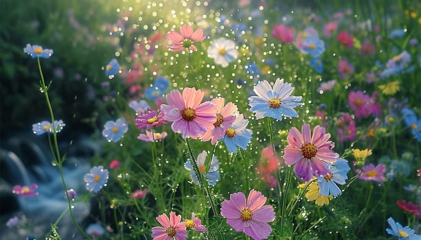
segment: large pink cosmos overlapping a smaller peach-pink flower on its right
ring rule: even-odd
[[[183,139],[197,139],[214,127],[216,121],[216,106],[203,99],[203,92],[196,88],[184,88],[183,95],[177,90],[167,95],[168,105],[161,105],[163,119],[173,121],[171,128]]]

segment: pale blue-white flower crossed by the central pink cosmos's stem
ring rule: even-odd
[[[216,182],[219,180],[219,161],[216,156],[212,156],[212,160],[209,166],[209,170],[207,170],[207,165],[205,165],[206,162],[206,156],[207,152],[203,151],[201,154],[198,154],[196,163],[198,165],[198,171],[207,179],[207,182],[209,185],[214,186]],[[190,160],[187,160],[187,162],[184,163],[185,169],[191,171],[190,177],[192,177],[192,180],[194,184],[198,184],[198,179],[196,174],[193,171],[192,164],[190,163]]]

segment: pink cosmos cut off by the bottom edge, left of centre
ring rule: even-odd
[[[181,215],[170,212],[170,218],[163,213],[156,217],[162,227],[152,228],[152,237],[154,240],[184,240],[187,238],[187,230],[185,230],[185,222],[181,221]]]

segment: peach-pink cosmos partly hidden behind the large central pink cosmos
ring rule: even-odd
[[[225,131],[231,126],[236,120],[235,113],[238,108],[236,104],[231,102],[224,106],[225,98],[218,97],[212,99],[212,104],[216,105],[216,121],[213,123],[213,127],[209,128],[205,134],[201,137],[201,141],[209,141],[212,139],[212,145],[225,135]]]

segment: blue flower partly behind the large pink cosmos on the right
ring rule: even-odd
[[[345,184],[345,181],[348,179],[347,173],[350,171],[350,166],[348,161],[343,158],[338,158],[334,165],[330,163],[325,163],[325,165],[328,166],[330,173],[326,174],[326,176],[317,177],[319,194],[337,197],[342,193],[337,184]]]

